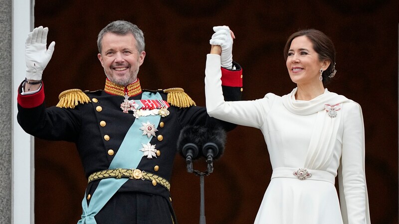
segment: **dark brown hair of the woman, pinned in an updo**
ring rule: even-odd
[[[329,60],[330,66],[323,72],[323,85],[330,82],[329,77],[335,70],[335,47],[330,37],[317,29],[303,29],[293,33],[285,43],[284,59],[287,61],[288,50],[290,49],[293,39],[299,36],[306,36],[313,44],[313,49],[319,54],[319,61]],[[336,71],[335,71],[336,72]],[[335,74],[335,73],[334,73]]]

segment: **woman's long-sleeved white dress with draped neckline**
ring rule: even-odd
[[[224,102],[219,55],[207,55],[205,75],[208,114],[264,135],[273,174],[255,224],[370,224],[357,103],[327,89],[311,101],[296,101],[294,89],[283,97],[269,93],[254,101]],[[311,176],[300,180],[299,168]]]

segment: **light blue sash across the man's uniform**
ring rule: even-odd
[[[153,94],[145,92],[142,95],[143,100],[155,99],[162,100],[159,93]],[[133,116],[133,115],[132,115]],[[160,115],[151,115],[142,117],[142,122],[149,121],[151,124],[155,124],[155,128],[158,127],[159,121],[161,119]],[[143,147],[142,144],[147,144],[151,141],[147,135],[143,135],[143,131],[139,129],[142,124],[141,120],[136,119],[128,132],[119,148],[118,152],[115,154],[114,159],[109,166],[109,169],[125,168],[132,169],[137,168],[140,160],[143,157],[143,152],[140,149]],[[78,224],[97,224],[94,216],[104,207],[104,205],[110,200],[110,198],[119,190],[119,188],[128,181],[128,178],[107,178],[102,179],[98,184],[97,189],[90,198],[90,204],[87,206],[86,195],[82,201],[83,214],[81,220]]]

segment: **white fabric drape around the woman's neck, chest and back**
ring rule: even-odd
[[[306,156],[304,167],[312,170],[324,170],[331,163],[331,159],[333,158],[333,141],[335,141],[337,136],[337,130],[340,126],[340,122],[342,116],[330,117],[325,111],[325,104],[328,103],[330,105],[342,104],[345,102],[354,102],[342,95],[338,95],[336,93],[331,93],[327,89],[325,89],[324,94],[312,99],[312,101],[296,101],[295,93],[297,88],[292,90],[292,92],[288,95],[282,97],[282,102],[284,107],[292,113],[299,115],[308,115],[317,112],[317,120],[316,125],[312,133],[312,138],[309,144],[308,153]],[[354,102],[356,103],[356,102]],[[360,106],[359,106],[360,108]],[[361,110],[361,109],[360,109]],[[363,123],[363,113],[360,111],[362,123]],[[364,126],[363,133],[364,133]],[[324,150],[321,150],[324,148]],[[326,150],[327,149],[327,150]],[[365,155],[365,148],[363,148],[363,161]],[[364,163],[363,163],[364,164]],[[363,172],[365,172],[365,168],[363,167]],[[341,213],[344,224],[348,224],[348,212],[346,209],[346,201],[344,195],[344,187],[342,180],[342,167],[338,170],[339,177],[339,192],[340,192],[340,204],[341,204]],[[367,194],[367,185],[366,179],[364,180],[366,187],[366,222],[370,224],[370,211],[369,211],[369,199]]]

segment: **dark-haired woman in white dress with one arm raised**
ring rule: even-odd
[[[255,224],[370,224],[361,107],[324,88],[336,73],[332,41],[315,29],[292,34],[284,56],[297,87],[282,97],[225,102],[220,65],[230,66],[233,35],[227,26],[214,30],[205,69],[207,112],[259,128],[273,168]]]

